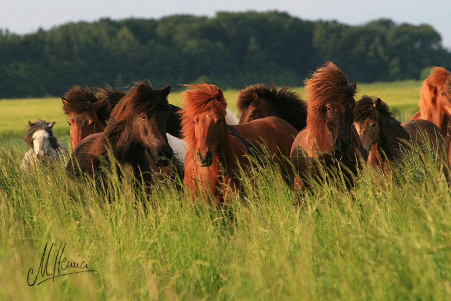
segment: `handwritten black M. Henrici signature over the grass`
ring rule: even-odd
[[[53,265],[53,272],[49,273],[49,259],[50,255],[52,253],[53,249],[53,243],[50,246],[49,251],[47,252],[47,245],[44,247],[44,252],[42,253],[41,263],[39,264],[38,271],[36,273],[36,276],[33,275],[34,270],[33,268],[30,268],[28,271],[27,276],[27,282],[28,285],[33,286],[36,284],[36,281],[38,280],[39,275],[41,274],[40,281],[38,282],[39,285],[44,281],[53,279],[55,281],[56,277],[65,276],[65,275],[71,275],[71,274],[77,274],[77,273],[83,273],[83,272],[97,272],[97,270],[89,269],[88,263],[86,261],[77,262],[77,261],[70,261],[66,257],[63,257],[64,249],[66,248],[66,244],[63,245],[63,243],[60,244],[60,247],[58,248],[58,252],[55,256],[55,264]],[[55,247],[56,250],[56,247]],[[78,255],[80,256],[80,255]],[[88,255],[89,257],[89,255]],[[46,259],[47,258],[47,259]],[[52,264],[52,261],[50,262]],[[71,269],[71,270],[69,270]],[[73,269],[79,269],[78,271],[74,271]],[[66,273],[64,273],[66,271]],[[64,274],[62,274],[64,273]],[[30,280],[35,278],[33,282],[30,282]],[[31,278],[31,279],[30,279]]]

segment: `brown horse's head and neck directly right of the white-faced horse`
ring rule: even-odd
[[[69,116],[72,147],[84,137],[104,130],[110,117],[108,96],[99,99],[89,87],[73,86],[61,97],[63,110]]]

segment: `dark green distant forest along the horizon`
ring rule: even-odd
[[[144,79],[175,89],[200,80],[238,89],[258,82],[299,86],[328,60],[360,82],[418,79],[430,65],[451,69],[451,54],[429,25],[381,19],[349,26],[281,12],[106,18],[29,35],[0,30],[0,98]]]

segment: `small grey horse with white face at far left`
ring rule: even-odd
[[[52,127],[54,124],[55,121],[46,122],[41,119],[35,122],[28,121],[26,134],[22,138],[30,146],[30,149],[22,160],[22,170],[45,158],[58,160],[63,153],[67,153],[66,145],[58,141],[53,134]]]

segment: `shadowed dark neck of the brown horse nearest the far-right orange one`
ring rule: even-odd
[[[377,112],[377,119],[379,123],[379,147],[389,159],[395,159],[399,155],[395,149],[399,149],[399,144],[405,145],[400,139],[409,139],[408,132],[402,127],[399,122]]]

